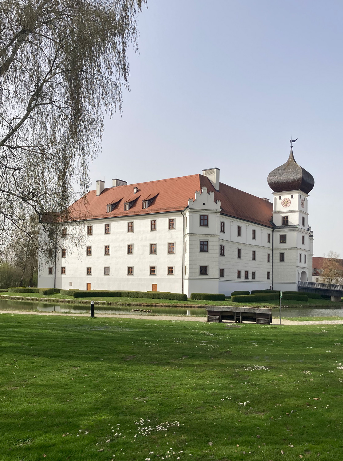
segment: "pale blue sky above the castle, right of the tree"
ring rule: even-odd
[[[343,256],[343,2],[148,0],[122,115],[106,118],[96,179],[201,173],[271,197],[267,175],[296,161],[315,179],[314,254]]]

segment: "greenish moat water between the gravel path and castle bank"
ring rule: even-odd
[[[134,307],[135,312],[132,312],[131,306],[95,306],[95,314],[128,314],[128,315],[173,315],[173,316],[194,316],[206,317],[204,308],[187,307]],[[53,304],[45,302],[27,302],[27,301],[12,301],[0,299],[0,310],[16,310],[16,311],[41,311],[41,312],[60,312],[60,313],[90,313],[90,307],[77,304]],[[149,310],[152,312],[143,312]],[[273,317],[278,317],[278,308],[273,309]],[[282,307],[282,317],[342,317],[343,307]]]

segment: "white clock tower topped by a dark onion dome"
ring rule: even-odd
[[[313,235],[308,226],[308,193],[313,176],[296,163],[292,145],[284,165],[268,175],[273,203],[273,289],[297,290],[312,282]]]

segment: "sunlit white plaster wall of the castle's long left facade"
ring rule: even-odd
[[[168,229],[168,219],[175,218],[175,230]],[[157,219],[157,231],[150,231],[150,220]],[[127,231],[127,223],[134,222],[134,232]],[[111,225],[111,233],[105,234],[105,224]],[[81,250],[67,250],[65,258],[57,260],[56,288],[86,290],[151,290],[157,284],[158,291],[182,292],[183,216],[181,213],[109,218],[86,223],[93,225],[93,235],[87,236]],[[175,254],[168,254],[168,243],[175,242]],[[150,243],[157,244],[157,254],[150,255]],[[134,253],[127,254],[127,244],[133,244]],[[110,245],[110,254],[104,254]],[[92,255],[86,256],[86,246],[92,247]],[[65,275],[61,275],[65,266]],[[127,275],[127,267],[133,266],[133,276]],[[156,266],[156,275],[149,275],[149,266]],[[167,275],[167,266],[174,266],[174,275]],[[92,275],[86,268],[92,267]],[[110,267],[110,275],[104,275],[104,267]],[[53,276],[47,276],[44,265],[39,274],[38,286],[53,286]]]

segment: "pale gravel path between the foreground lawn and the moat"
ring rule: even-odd
[[[89,317],[89,314],[79,313],[59,313],[59,312],[32,312],[32,311],[1,311],[0,314],[30,314],[30,315],[64,315],[69,317]],[[188,322],[207,322],[207,317],[186,317],[174,315],[130,315],[130,314],[96,314],[99,318],[114,318],[114,319],[141,319],[141,320],[186,320]],[[231,324],[231,322],[230,322]],[[294,320],[281,319],[281,325],[340,325],[343,320],[307,320],[305,322],[297,322]],[[236,324],[237,325],[237,324]],[[272,325],[279,325],[279,319],[274,317]]]

